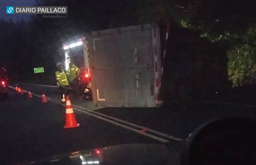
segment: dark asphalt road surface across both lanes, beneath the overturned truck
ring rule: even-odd
[[[64,129],[65,106],[58,87],[22,84],[35,93],[33,99],[10,89],[10,99],[0,102],[0,164],[35,160],[55,154],[127,143],[161,143],[179,153],[190,132],[216,118],[256,119],[256,106],[192,101],[187,109],[103,108],[93,109],[91,101],[71,97],[80,127]],[[44,93],[42,104],[36,94]],[[40,96],[40,95],[38,95]],[[167,145],[168,144],[168,145]],[[172,148],[173,149],[173,148]],[[178,159],[178,158],[177,158]]]

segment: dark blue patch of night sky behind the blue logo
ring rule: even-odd
[[[0,0],[0,19],[4,20],[28,20],[30,14],[6,14],[6,6],[33,6],[36,0]]]

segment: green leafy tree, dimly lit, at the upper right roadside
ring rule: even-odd
[[[254,72],[256,63],[256,7],[254,1],[199,0],[184,9],[180,19],[184,27],[200,28],[212,42],[228,40],[228,73],[234,84],[240,84]]]

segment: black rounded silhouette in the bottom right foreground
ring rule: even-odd
[[[186,139],[181,165],[256,164],[256,121],[225,118],[208,122]]]

